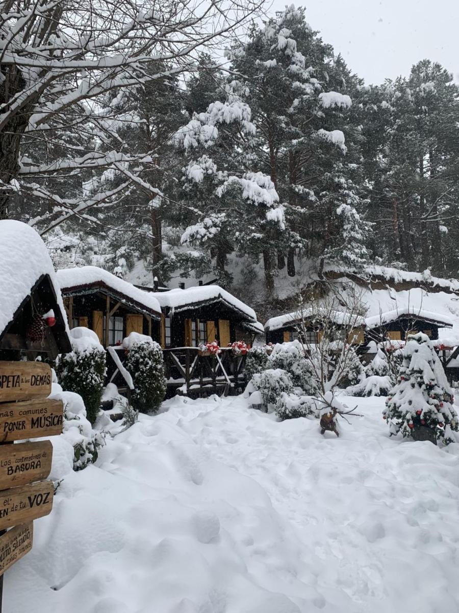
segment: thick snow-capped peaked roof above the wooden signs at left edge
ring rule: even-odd
[[[0,221],[0,334],[43,275],[50,277],[61,310],[62,323],[68,333],[61,289],[42,238],[32,227],[21,221]],[[55,315],[58,317],[58,313]]]

